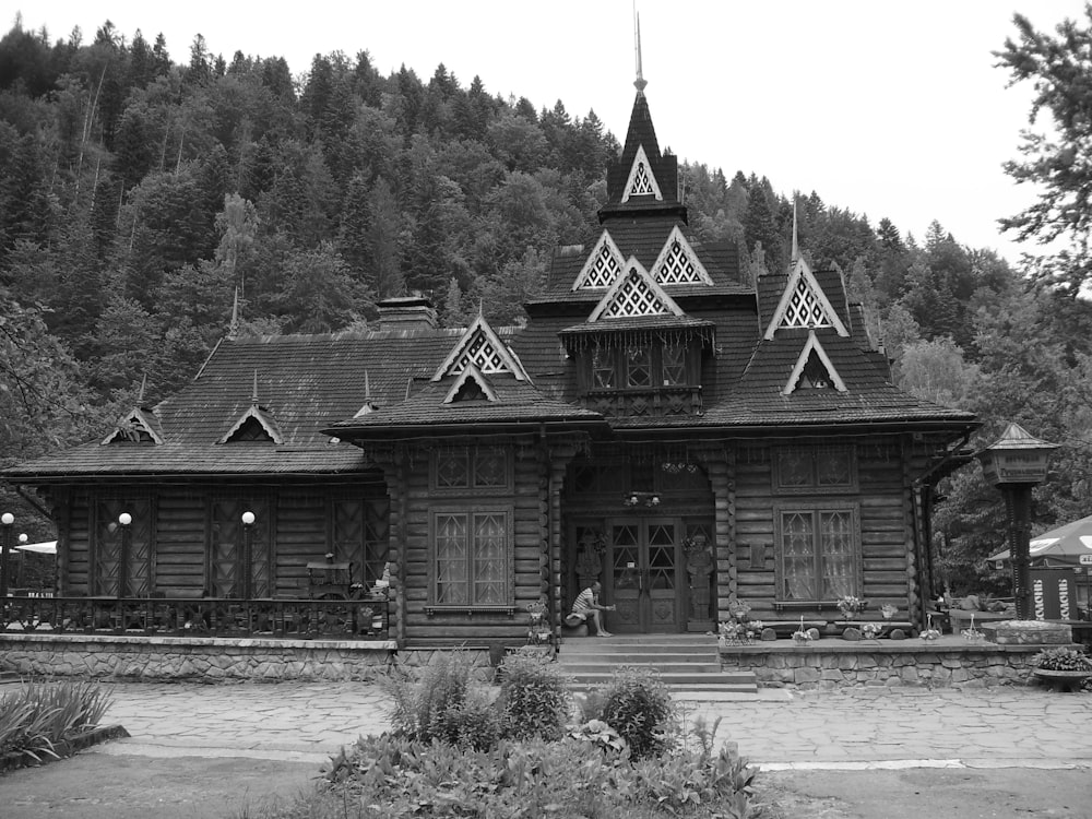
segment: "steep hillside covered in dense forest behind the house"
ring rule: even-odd
[[[0,40],[0,465],[103,435],[142,383],[149,403],[177,390],[236,298],[241,332],[364,328],[407,292],[447,324],[519,321],[553,249],[597,235],[619,142],[594,111],[488,82],[382,76],[364,50],[289,67],[198,35],[178,60],[108,22],[91,41],[16,24]],[[729,174],[684,166],[691,225],[740,241],[753,275],[780,268],[793,194]],[[901,385],[980,413],[985,442],[1017,420],[1067,444],[1036,519],[1092,511],[1092,312],[1073,290],[937,223],[915,239],[817,192],[798,209],[802,247],[844,272]],[[1002,544],[999,496],[972,467],[949,497],[938,548],[972,584]]]

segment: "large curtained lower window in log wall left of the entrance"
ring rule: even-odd
[[[432,513],[435,605],[509,604],[511,521],[511,510]]]

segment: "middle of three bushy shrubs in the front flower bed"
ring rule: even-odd
[[[517,739],[560,739],[569,716],[568,680],[535,654],[509,654],[500,664],[505,733]]]

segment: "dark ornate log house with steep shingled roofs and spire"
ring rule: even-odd
[[[50,505],[60,594],[292,597],[328,560],[389,571],[407,648],[522,643],[529,604],[556,626],[594,579],[616,633],[844,595],[922,622],[931,487],[974,417],[895,389],[795,241],[757,282],[699,241],[643,83],[607,188],[525,325],[406,297],[370,332],[227,337],[179,394],[8,470]]]

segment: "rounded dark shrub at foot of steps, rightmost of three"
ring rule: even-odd
[[[653,674],[622,668],[600,692],[603,720],[629,744],[633,759],[658,756],[668,747],[667,731],[675,703],[666,686]],[[586,714],[585,714],[586,715]]]

